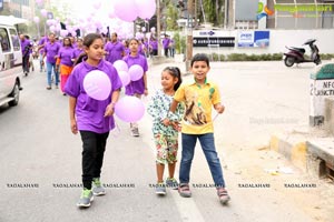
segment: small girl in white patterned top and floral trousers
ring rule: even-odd
[[[153,133],[157,149],[157,194],[166,194],[166,186],[177,189],[178,183],[174,179],[175,165],[178,150],[178,123],[184,114],[184,105],[178,103],[175,114],[170,115],[169,122],[165,122],[175,91],[181,83],[180,71],[176,67],[165,68],[161,73],[161,87],[153,97],[147,108],[153,117]],[[169,176],[164,183],[164,170],[168,164]]]

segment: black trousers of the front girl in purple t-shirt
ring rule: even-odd
[[[94,178],[100,178],[106,150],[107,133],[80,131],[82,140],[82,183],[84,188],[91,189]]]

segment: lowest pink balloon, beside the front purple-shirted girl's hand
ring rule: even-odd
[[[145,105],[136,97],[126,95],[115,105],[115,114],[125,122],[137,122],[144,117]]]

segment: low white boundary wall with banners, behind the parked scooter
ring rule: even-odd
[[[203,31],[203,30],[202,30]],[[209,30],[208,30],[209,31]],[[313,29],[313,30],[271,30],[268,48],[238,48],[237,33],[238,30],[218,31],[222,37],[235,37],[234,48],[194,48],[193,53],[246,53],[246,54],[263,54],[263,53],[283,53],[286,50],[285,46],[302,47],[307,39],[317,39],[316,44],[321,53],[334,53],[334,29]],[[196,36],[194,31],[193,36]],[[306,53],[310,54],[308,47]]]

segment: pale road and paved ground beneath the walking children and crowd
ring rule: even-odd
[[[151,65],[149,91],[159,88],[166,63]],[[183,64],[178,64],[183,68]],[[107,195],[79,210],[81,141],[69,129],[68,98],[46,90],[46,73],[23,79],[18,107],[0,108],[0,221],[332,221],[333,183],[307,176],[265,145],[272,133],[307,125],[312,64],[287,69],[282,62],[212,63],[226,112],[215,120],[216,147],[232,196],[222,206],[203,152],[193,162],[193,198],[168,190],[155,194],[155,150],[150,118],[140,138],[117,120],[102,168]],[[191,78],[186,75],[184,79]],[[143,101],[148,102],[148,98]],[[292,173],[271,173],[287,168]],[[306,184],[312,188],[292,188]],[[20,188],[20,186],[30,188]],[[252,186],[265,188],[252,188]]]

